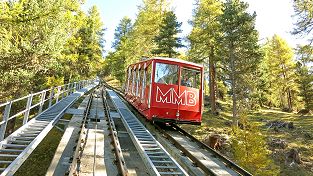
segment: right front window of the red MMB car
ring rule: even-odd
[[[182,68],[180,85],[200,89],[201,72],[199,70]]]

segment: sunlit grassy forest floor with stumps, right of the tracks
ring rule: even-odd
[[[231,106],[230,103],[225,102],[220,102],[220,104],[223,111],[218,116],[210,114],[208,107],[205,107],[201,126],[182,125],[182,127],[205,143],[212,134],[220,134],[231,140]],[[279,167],[279,175],[313,175],[312,115],[286,113],[279,109],[260,109],[250,112],[248,118],[259,127],[264,136],[270,151],[270,158]],[[288,128],[290,122],[294,128]],[[281,127],[274,127],[275,124]],[[278,141],[278,145],[273,144],[273,141]],[[291,149],[296,149],[300,153],[300,164],[286,163],[287,153]],[[226,150],[222,148],[220,152],[233,159],[231,147]]]

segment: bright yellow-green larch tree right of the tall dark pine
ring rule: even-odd
[[[265,47],[264,68],[270,104],[292,111],[298,94],[292,48],[278,35],[274,35]]]

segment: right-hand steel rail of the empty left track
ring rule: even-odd
[[[128,175],[128,169],[122,154],[122,149],[118,140],[118,136],[117,136],[117,130],[115,128],[115,124],[114,121],[110,115],[110,107],[108,105],[106,96],[103,95],[104,94],[104,90],[102,89],[101,95],[102,95],[102,101],[103,101],[103,105],[104,105],[104,112],[105,112],[105,116],[109,122],[109,130],[111,133],[111,139],[112,139],[112,143],[114,146],[114,152],[115,152],[115,157],[116,157],[116,161],[117,161],[117,166],[118,169],[120,171],[120,174],[123,176],[127,176]]]

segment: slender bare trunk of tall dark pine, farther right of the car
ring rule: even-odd
[[[229,60],[230,60],[230,80],[232,88],[232,99],[233,99],[233,125],[238,127],[238,118],[237,118],[237,89],[236,89],[236,74],[235,74],[235,57],[234,57],[233,43],[230,44],[229,48]]]

